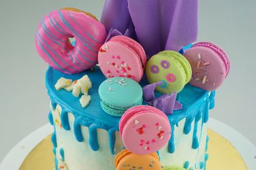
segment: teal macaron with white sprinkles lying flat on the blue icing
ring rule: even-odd
[[[99,96],[102,110],[115,117],[121,117],[129,108],[143,103],[140,84],[124,77],[103,81],[99,87]]]

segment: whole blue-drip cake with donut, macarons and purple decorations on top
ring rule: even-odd
[[[197,17],[197,0],[106,0],[100,21],[75,8],[45,15],[35,43],[49,64],[54,169],[206,169],[230,63],[213,43],[191,44]]]

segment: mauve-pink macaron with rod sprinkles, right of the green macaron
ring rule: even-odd
[[[207,91],[218,89],[230,70],[227,54],[213,43],[196,43],[184,56],[193,72],[189,83]]]

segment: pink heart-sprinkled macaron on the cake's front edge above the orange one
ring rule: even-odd
[[[119,122],[125,148],[146,155],[163,148],[171,138],[172,127],[166,115],[152,106],[134,106]]]

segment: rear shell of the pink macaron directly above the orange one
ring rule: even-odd
[[[163,111],[158,110],[157,108],[154,108],[152,106],[146,106],[146,105],[134,106],[132,108],[129,108],[129,110],[125,111],[124,115],[122,115],[122,117],[120,118],[120,121],[119,121],[119,131],[120,131],[120,134],[122,135],[122,132],[123,132],[123,129],[124,129],[124,125],[126,124],[126,122],[131,117],[133,117],[137,113],[147,112],[147,111],[155,113],[155,114],[159,115],[160,117],[163,117],[164,119],[166,119],[168,121],[168,117],[163,113]]]

